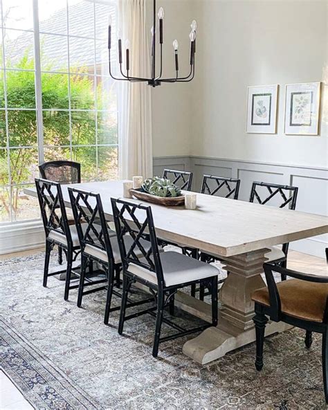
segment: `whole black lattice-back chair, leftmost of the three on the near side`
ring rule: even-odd
[[[46,287],[49,276],[66,271],[64,299],[67,301],[69,291],[78,287],[78,285],[71,285],[72,265],[80,253],[78,233],[76,227],[69,225],[69,221],[67,220],[60,184],[54,181],[36,178],[35,186],[37,188],[37,197],[39,199],[42,222],[46,234],[43,285]],[[48,273],[51,251],[55,245],[64,249],[67,265],[65,270]]]

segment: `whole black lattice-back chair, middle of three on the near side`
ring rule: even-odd
[[[104,313],[104,323],[109,321],[109,313],[120,310],[120,306],[111,308],[111,298],[113,294],[121,297],[114,289],[116,281],[120,286],[120,271],[122,262],[116,233],[108,228],[104,217],[102,200],[100,194],[91,193],[77,188],[69,188],[69,197],[78,230],[78,238],[81,247],[81,272],[78,290],[78,307],[82,305],[82,297],[86,294],[99,292],[107,289],[106,308]],[[81,223],[83,222],[83,223]],[[126,238],[127,243],[131,243],[131,238]],[[150,243],[141,239],[145,249],[149,249]],[[137,256],[141,256],[136,251]],[[92,280],[86,277],[86,267],[92,267],[93,262],[98,262],[104,269],[106,278]],[[97,285],[97,286],[96,286]],[[101,286],[99,286],[101,285]],[[91,287],[91,288],[90,288]],[[85,290],[85,288],[87,288]],[[129,306],[136,306],[153,301],[154,297],[147,298],[136,303],[129,303]]]

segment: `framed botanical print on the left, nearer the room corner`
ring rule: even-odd
[[[277,131],[278,86],[248,87],[246,132],[275,134]]]

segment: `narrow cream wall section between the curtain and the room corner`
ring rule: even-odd
[[[163,6],[163,76],[175,75],[172,42],[179,41],[179,69],[181,75],[190,70],[190,23],[194,17],[190,0],[161,0]],[[147,3],[149,30],[152,26],[152,0]],[[150,31],[149,31],[150,33]],[[159,62],[157,62],[157,66]],[[153,152],[154,157],[190,154],[190,117],[192,112],[192,87],[186,84],[163,84],[152,90]]]

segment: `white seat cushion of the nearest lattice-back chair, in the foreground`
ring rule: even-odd
[[[143,259],[141,258],[140,262],[143,262]],[[174,251],[161,253],[161,262],[165,286],[179,285],[219,274],[216,267]],[[131,274],[148,280],[151,283],[157,283],[155,272],[134,263],[130,263],[127,270]]]

